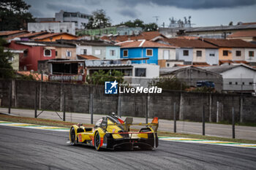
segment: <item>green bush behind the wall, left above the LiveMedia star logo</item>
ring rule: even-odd
[[[86,77],[86,82],[92,85],[105,85],[106,81],[115,80],[118,83],[124,82],[123,73],[116,70],[113,70],[112,72],[108,71],[107,73],[103,70],[99,70],[99,72],[94,72]]]

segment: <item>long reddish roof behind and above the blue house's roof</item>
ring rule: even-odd
[[[109,40],[109,41],[115,41],[115,42],[125,42],[127,40],[135,40],[135,39],[146,39],[151,40],[156,38],[157,36],[162,36],[162,34],[159,33],[159,31],[148,31],[148,32],[142,32],[138,36],[102,36],[101,39]]]

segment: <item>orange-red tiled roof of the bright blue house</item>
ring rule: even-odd
[[[158,42],[150,42],[145,39],[140,39],[138,41],[127,41],[127,42],[119,42],[116,45],[121,45],[121,48],[129,48],[129,47],[173,47],[171,45],[164,45]]]

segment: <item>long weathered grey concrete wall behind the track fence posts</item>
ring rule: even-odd
[[[177,120],[201,121],[203,106],[206,121],[231,122],[232,107],[236,121],[256,123],[255,96],[241,96],[218,93],[187,93],[163,91],[161,94],[119,94],[106,95],[102,85],[63,84],[59,82],[33,82],[23,80],[0,80],[1,107],[8,107],[10,87],[12,87],[12,107],[34,109],[37,88],[37,106],[40,109],[63,110],[64,92],[67,112],[89,113],[90,93],[93,94],[93,112],[110,114],[173,119],[173,103],[176,102]],[[119,98],[119,99],[118,99]],[[148,106],[146,105],[148,100]],[[43,113],[42,113],[43,114]]]

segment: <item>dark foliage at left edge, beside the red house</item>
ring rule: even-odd
[[[11,63],[8,61],[9,58],[12,58],[12,53],[9,51],[4,52],[6,43],[4,39],[0,39],[0,78],[4,79],[12,78],[15,75]]]

